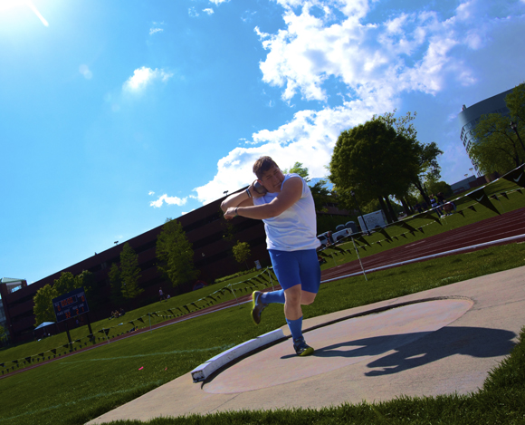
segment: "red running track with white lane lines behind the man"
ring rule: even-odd
[[[439,226],[437,223],[433,226]],[[385,252],[375,254],[373,256],[367,256],[361,261],[365,270],[373,269],[380,266],[395,265],[406,260],[412,260],[415,258],[420,258],[424,256],[431,256],[445,251],[451,251],[457,248],[463,248],[465,246],[474,246],[482,244],[485,242],[490,242],[494,240],[499,240],[505,237],[514,237],[518,235],[525,235],[525,208],[516,209],[514,211],[505,213],[501,216],[487,218],[483,221],[473,223],[468,226],[456,228],[448,232],[444,232],[440,235],[435,235],[433,237],[427,237],[425,239],[419,240],[413,244],[408,244],[404,246],[398,246],[396,248],[389,249]],[[521,240],[521,239],[520,239]],[[522,238],[525,241],[525,236]],[[508,242],[507,242],[508,243]],[[504,245],[498,244],[498,245]],[[481,248],[477,248],[481,249]],[[472,251],[476,248],[472,248]],[[336,266],[325,270],[321,274],[321,280],[329,280],[344,275],[350,275],[352,273],[358,273],[361,271],[358,260],[354,260],[346,265]],[[280,286],[276,286],[280,288]],[[239,297],[238,302],[244,303],[250,301],[252,295],[243,295]],[[210,307],[203,308],[196,312],[186,314],[184,316],[177,317],[175,319],[168,320],[161,324],[154,324],[152,329],[157,329],[169,324],[176,324],[178,322],[184,322],[188,319],[195,318],[203,314],[210,314],[218,310],[223,310],[224,308],[229,308],[237,304],[236,300],[225,301],[224,303],[215,304]],[[131,320],[131,317],[126,318],[126,320]],[[110,343],[122,340],[124,338],[129,338],[139,333],[145,333],[149,331],[149,327],[144,327],[133,333],[125,333],[123,335],[117,336],[110,340]],[[72,353],[67,353],[61,357],[56,357],[48,361],[38,362],[31,366],[28,366],[22,370],[15,370],[13,372],[5,373],[5,375],[0,376],[0,379],[6,378],[7,376],[14,375],[18,372],[29,371],[43,364],[53,362],[55,360],[63,359],[64,357],[69,357],[76,353],[85,352],[92,350],[93,348],[99,347],[103,343],[96,343],[94,345],[79,348],[77,351]]]

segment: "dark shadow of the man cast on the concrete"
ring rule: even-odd
[[[388,353],[367,367],[374,369],[367,376],[387,375],[406,371],[444,359],[454,354],[472,357],[496,357],[511,353],[511,340],[516,333],[504,329],[480,327],[444,327],[435,332],[401,333],[374,336],[360,340],[316,347],[318,357],[361,357]],[[345,347],[345,350],[340,350]],[[355,347],[353,350],[348,348]],[[395,351],[395,353],[389,353]],[[293,356],[282,356],[282,358]]]

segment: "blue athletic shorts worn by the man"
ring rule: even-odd
[[[286,290],[301,285],[306,292],[317,294],[320,286],[320,266],[315,249],[278,251],[269,249],[272,266],[279,284]]]

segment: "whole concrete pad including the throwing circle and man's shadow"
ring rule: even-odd
[[[88,423],[466,394],[510,353],[523,325],[525,266],[307,319],[310,357],[279,343],[204,385],[187,373]]]

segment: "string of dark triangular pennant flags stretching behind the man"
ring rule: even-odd
[[[497,194],[488,194],[487,193],[487,187],[494,184],[496,181],[500,179],[506,179],[510,181],[513,184],[516,184],[520,188],[514,188],[512,190],[503,191],[501,193]],[[483,208],[488,208],[492,210],[494,213],[501,215],[501,213],[498,211],[498,209],[493,205],[492,200],[501,202],[501,198],[509,199],[509,195],[511,193],[519,193],[521,196],[523,196],[523,190],[522,188],[525,188],[525,164],[518,167],[517,169],[513,169],[511,172],[505,174],[500,179],[496,179],[492,181],[491,183],[482,186],[481,188],[477,188],[473,190],[470,193],[467,193],[463,195],[463,197],[457,198],[457,200],[462,198],[470,198],[473,202],[471,205],[466,206],[463,209],[458,209],[455,211],[455,213],[460,214],[462,217],[465,217],[465,212],[471,211],[471,212],[477,212],[476,208],[479,208],[478,206],[482,206]],[[491,200],[492,199],[492,200]],[[446,204],[445,204],[446,205]],[[502,206],[502,204],[501,204]],[[440,206],[443,207],[443,206]],[[412,226],[409,221],[413,221],[418,218],[424,218],[429,220],[429,223],[426,223],[421,226]],[[377,240],[375,242],[368,241],[366,238],[366,235],[362,233],[349,235],[348,237],[344,237],[339,240],[337,244],[327,246],[323,249],[320,249],[318,252],[319,256],[328,258],[333,256],[339,256],[339,255],[347,255],[352,254],[351,248],[343,247],[344,244],[347,244],[350,239],[353,239],[353,241],[356,243],[356,247],[358,249],[363,249],[366,251],[367,247],[371,247],[374,244],[377,244],[378,246],[383,246],[384,243],[392,243],[393,240],[399,240],[400,237],[408,238],[408,235],[415,236],[416,232],[425,233],[424,227],[436,225],[439,224],[440,226],[443,226],[442,220],[446,219],[446,217],[439,217],[438,214],[435,212],[434,209],[426,210],[422,213],[416,214],[415,216],[411,216],[407,219],[400,220],[396,223],[390,224],[385,228],[375,229],[377,233],[380,233],[384,238]],[[392,230],[395,227],[401,227],[402,229],[405,229],[406,231],[401,234],[392,235]],[[390,232],[390,233],[388,233]],[[146,326],[146,320],[149,321],[149,324],[151,323],[151,317],[157,317],[161,319],[171,319],[175,318],[181,315],[189,314],[192,312],[195,312],[197,310],[201,310],[203,308],[209,307],[211,305],[214,305],[221,301],[221,299],[224,298],[225,295],[230,294],[234,295],[235,298],[237,298],[237,295],[244,295],[252,292],[256,288],[266,288],[269,286],[278,285],[277,276],[273,272],[273,268],[266,267],[262,270],[261,273],[258,275],[255,275],[249,279],[243,280],[241,282],[237,282],[234,284],[225,285],[224,287],[217,289],[214,293],[205,295],[202,298],[199,298],[198,300],[184,304],[177,307],[168,308],[166,310],[159,310],[157,312],[144,314],[134,320],[130,320],[126,324],[130,324],[132,327],[125,332],[122,333],[116,333],[112,335],[111,337],[119,336],[124,333],[134,332],[138,329],[140,325]],[[54,348],[48,351],[45,351],[43,353],[34,354],[31,356],[23,357],[21,359],[16,359],[11,362],[0,362],[0,368],[2,368],[2,374],[5,372],[14,371],[14,368],[20,368],[25,367],[28,364],[34,363],[34,362],[40,362],[41,360],[50,360],[51,358],[56,358],[57,356],[62,355],[63,349],[66,349],[66,351],[63,354],[72,353],[72,351],[76,351],[79,348],[82,347],[82,344],[86,346],[88,343],[97,343],[100,341],[106,341],[110,340],[110,331],[114,330],[116,328],[119,328],[119,326],[125,325],[124,323],[110,326],[109,328],[102,328],[95,332],[94,334],[88,335],[86,337],[83,337],[81,339],[77,339],[73,341],[72,343],[66,343],[63,344],[61,347]],[[47,359],[46,359],[47,357]]]

